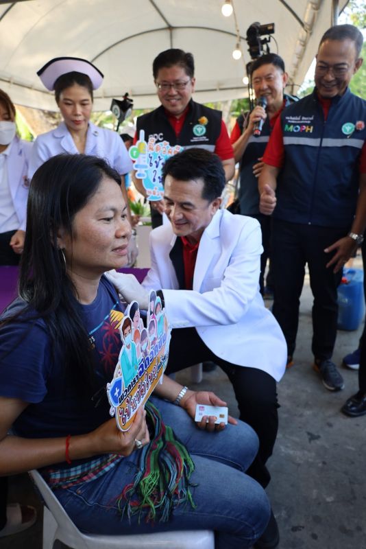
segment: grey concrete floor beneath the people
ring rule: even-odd
[[[361,260],[356,259],[354,266]],[[269,460],[267,489],[280,527],[278,549],[366,549],[366,416],[339,412],[357,390],[357,373],[341,368],[345,389],[330,393],[311,368],[311,305],[308,281],[302,294],[295,365],[278,384],[280,428]],[[363,325],[339,331],[334,362],[358,346]],[[189,371],[177,375],[192,388],[215,390],[237,415],[232,386],[220,369],[191,384]],[[10,500],[38,508],[37,523],[24,533],[0,539],[1,549],[41,549],[41,506],[26,475],[10,480]],[[174,549],[174,548],[171,548]]]

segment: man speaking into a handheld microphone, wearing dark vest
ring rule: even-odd
[[[236,120],[230,141],[235,162],[240,162],[240,213],[260,222],[263,254],[260,258],[260,292],[264,294],[264,275],[269,258],[270,219],[259,211],[258,176],[263,167],[271,130],[282,109],[294,101],[284,94],[288,75],[283,59],[276,54],[260,56],[250,68],[257,104],[252,113],[244,113]]]

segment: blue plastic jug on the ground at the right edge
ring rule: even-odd
[[[345,268],[338,287],[338,329],[356,330],[364,316],[363,270]]]

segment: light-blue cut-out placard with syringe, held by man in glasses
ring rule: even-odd
[[[183,150],[180,145],[171,145],[168,141],[156,143],[155,137],[145,141],[145,131],[140,130],[138,141],[128,151],[134,161],[136,178],[141,179],[147,192],[147,200],[161,200],[164,195],[162,185],[162,166],[173,154]]]

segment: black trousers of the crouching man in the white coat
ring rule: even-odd
[[[239,417],[258,435],[258,454],[247,474],[265,488],[271,479],[265,463],[272,454],[278,430],[276,381],[262,370],[231,364],[217,357],[204,344],[195,328],[172,330],[169,362],[165,373],[178,372],[209,360],[219,364],[228,375],[238,402]]]

